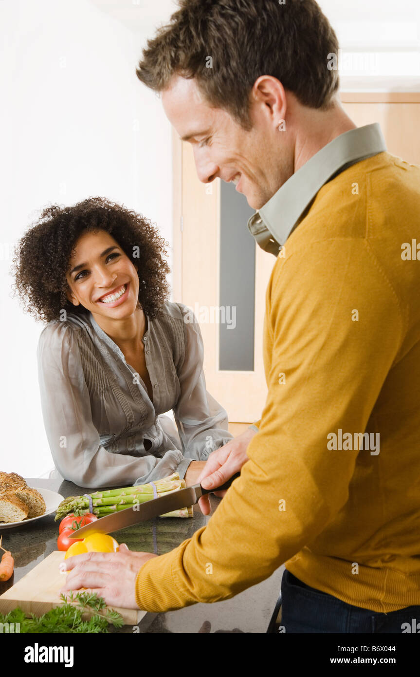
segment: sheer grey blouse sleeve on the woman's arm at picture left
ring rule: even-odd
[[[49,324],[37,349],[45,431],[53,461],[64,477],[81,487],[128,486],[167,477],[183,461],[179,450],[162,458],[107,452],[92,422],[91,401],[80,351],[71,326]]]

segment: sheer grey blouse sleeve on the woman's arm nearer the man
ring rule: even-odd
[[[191,309],[178,304],[184,318],[185,359],[177,370],[181,395],[173,408],[184,456],[207,460],[209,454],[223,447],[233,435],[228,431],[225,409],[206,390],[203,372],[204,345],[200,326]],[[186,318],[193,317],[193,322]]]

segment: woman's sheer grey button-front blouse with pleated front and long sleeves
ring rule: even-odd
[[[206,460],[233,439],[227,412],[206,390],[202,334],[192,317],[171,301],[154,320],[147,317],[143,343],[153,401],[91,313],[68,313],[66,322],[43,329],[41,406],[64,479],[95,489],[143,484],[174,471],[183,478],[191,460]],[[176,427],[164,416],[171,409]]]

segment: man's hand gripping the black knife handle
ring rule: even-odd
[[[254,435],[256,435],[256,431],[248,428],[241,435],[231,439],[224,447],[212,452],[202,473],[197,477],[197,483],[200,482],[204,489],[212,489],[212,487],[220,487],[225,484],[248,461],[246,450]],[[226,491],[214,492],[214,496],[225,496],[225,493]],[[211,507],[208,494],[199,498],[198,504],[203,515],[210,515]]]

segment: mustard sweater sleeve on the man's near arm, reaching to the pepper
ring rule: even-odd
[[[358,454],[369,454],[328,445],[339,429],[365,431],[402,341],[369,244],[331,238],[277,259],[266,319],[268,395],[249,461],[208,525],[141,567],[141,609],[215,602],[269,577],[346,504]]]

